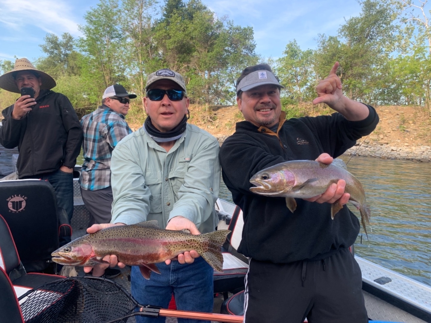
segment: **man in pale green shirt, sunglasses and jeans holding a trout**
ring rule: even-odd
[[[214,204],[220,184],[219,143],[206,131],[187,124],[189,99],[184,79],[177,72],[164,68],[150,74],[145,90],[148,117],[144,126],[125,137],[112,153],[111,224],[94,225],[87,232],[148,220],[157,220],[159,227],[168,230],[187,229],[192,234],[214,231],[218,223]],[[111,266],[117,264],[115,255],[104,260]],[[106,267],[95,266],[93,275],[100,275]],[[184,252],[178,260],[156,267],[161,274],[152,273],[150,280],[142,276],[139,267],[131,269],[132,295],[140,304],[167,308],[173,293],[179,310],[212,312],[214,271],[196,251]],[[165,319],[136,320],[153,323]]]

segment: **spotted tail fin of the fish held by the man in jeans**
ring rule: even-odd
[[[229,230],[217,230],[204,233],[202,237],[208,240],[207,248],[202,251],[196,250],[212,268],[220,273],[223,272],[222,245],[230,232]]]

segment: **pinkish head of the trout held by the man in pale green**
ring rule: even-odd
[[[89,263],[90,258],[94,255],[93,247],[90,242],[80,240],[69,242],[54,251],[51,256],[57,264],[75,266]]]

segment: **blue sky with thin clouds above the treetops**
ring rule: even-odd
[[[278,58],[294,39],[301,49],[315,49],[317,35],[335,35],[344,18],[359,16],[356,0],[202,0],[217,16],[254,30],[256,53]],[[39,44],[48,33],[81,36],[78,25],[98,0],[0,0],[0,59],[31,61],[42,56]],[[163,0],[159,2],[160,5]]]

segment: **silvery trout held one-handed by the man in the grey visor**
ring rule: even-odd
[[[324,193],[332,183],[345,180],[345,192],[350,194],[349,202],[359,210],[362,227],[368,237],[365,221],[369,223],[370,210],[366,205],[364,189],[343,164],[340,159],[334,159],[330,165],[311,160],[283,162],[256,173],[250,179],[250,183],[256,187],[251,187],[250,191],[264,196],[285,197],[287,208],[293,213],[297,207],[294,198],[308,199],[317,196]],[[332,219],[341,208],[343,205],[338,201],[332,204]]]

